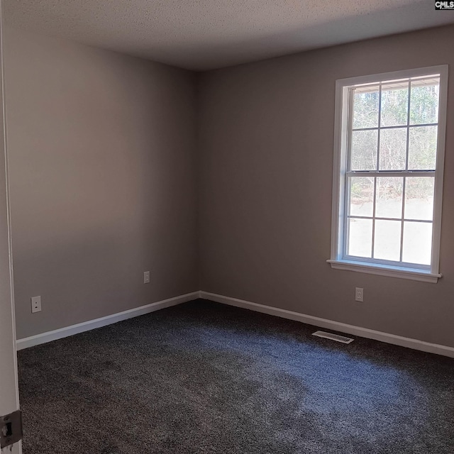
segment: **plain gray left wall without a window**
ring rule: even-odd
[[[195,74],[11,28],[5,68],[18,338],[198,290]]]

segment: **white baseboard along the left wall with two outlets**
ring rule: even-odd
[[[33,347],[33,345],[56,341],[57,339],[83,333],[84,331],[90,331],[92,329],[101,328],[102,326],[111,325],[112,323],[117,323],[118,321],[132,319],[133,317],[159,311],[160,309],[165,309],[165,307],[177,306],[177,304],[186,303],[187,301],[192,301],[192,299],[199,297],[200,292],[187,293],[180,295],[179,297],[163,299],[162,301],[156,301],[155,303],[146,304],[145,306],[136,307],[135,309],[118,312],[118,314],[101,317],[100,319],[84,321],[83,323],[77,323],[77,325],[66,326],[65,328],[37,334],[36,336],[30,336],[29,338],[18,339],[16,341],[16,349],[23,350],[23,348]]]

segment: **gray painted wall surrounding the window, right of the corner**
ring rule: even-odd
[[[335,81],[450,65],[454,27],[217,70],[199,80],[201,288],[454,346],[454,96],[438,284],[332,270]],[[355,303],[363,287],[365,303]]]

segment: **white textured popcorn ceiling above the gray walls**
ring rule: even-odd
[[[454,23],[433,0],[3,0],[16,28],[189,70]]]

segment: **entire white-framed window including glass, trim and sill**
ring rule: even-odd
[[[437,282],[448,66],[336,82],[331,266]]]

